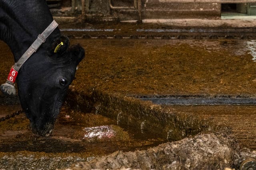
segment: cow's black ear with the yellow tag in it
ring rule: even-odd
[[[50,56],[60,57],[67,51],[69,47],[69,39],[65,35],[60,35],[54,39],[50,47]]]

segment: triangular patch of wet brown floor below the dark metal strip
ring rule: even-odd
[[[216,125],[231,128],[241,148],[256,150],[256,106],[218,105],[218,106],[163,106],[175,111],[196,113],[210,119]]]

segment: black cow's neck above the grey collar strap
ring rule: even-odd
[[[0,0],[0,39],[9,45],[15,62],[52,20],[44,0]],[[59,29],[54,30],[48,39],[54,39],[59,33]],[[47,43],[51,43],[50,40],[42,48]]]

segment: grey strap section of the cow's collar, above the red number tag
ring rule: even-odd
[[[53,20],[52,23],[38,35],[37,39],[32,43],[32,45],[27,49],[27,51],[20,57],[17,63],[14,64],[14,70],[17,72],[20,70],[20,67],[28,60],[28,58],[36,52],[36,50],[44,43],[47,37],[58,27],[58,23]]]

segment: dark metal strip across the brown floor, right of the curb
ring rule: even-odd
[[[256,98],[232,98],[205,96],[167,96],[167,97],[140,97],[140,100],[151,101],[154,104],[170,105],[255,105]]]

